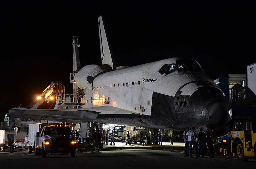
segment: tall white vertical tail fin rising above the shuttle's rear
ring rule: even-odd
[[[106,35],[106,31],[105,31],[101,16],[99,17],[98,21],[99,21],[100,54],[101,54],[102,67],[105,68],[106,70],[116,70],[116,62],[113,55],[111,55],[111,51],[108,44],[108,38]]]

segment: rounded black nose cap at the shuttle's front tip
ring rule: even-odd
[[[216,102],[212,105],[209,114],[209,123],[212,125],[225,125],[232,118],[232,109],[228,102]]]

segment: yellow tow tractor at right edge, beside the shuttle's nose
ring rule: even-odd
[[[254,121],[246,121],[245,130],[231,131],[231,152],[239,161],[248,161],[249,157],[255,157],[256,126]]]

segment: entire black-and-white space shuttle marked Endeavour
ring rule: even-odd
[[[9,117],[63,122],[101,122],[157,129],[218,129],[232,118],[230,103],[194,59],[173,57],[119,66],[98,18],[102,66],[86,65],[74,83],[86,99],[76,109],[9,110]]]

